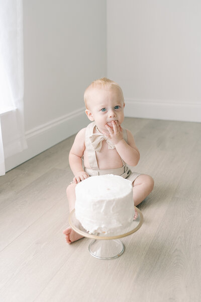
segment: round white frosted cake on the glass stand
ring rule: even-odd
[[[120,234],[135,214],[132,182],[121,176],[91,176],[75,188],[75,216],[89,232]]]

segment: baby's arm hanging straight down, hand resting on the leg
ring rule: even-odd
[[[75,184],[89,177],[83,170],[81,159],[85,149],[85,129],[83,128],[77,133],[69,153],[69,164],[74,174],[73,182]]]

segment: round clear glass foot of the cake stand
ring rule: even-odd
[[[125,247],[119,239],[93,240],[88,246],[91,255],[98,259],[115,259],[124,253]]]

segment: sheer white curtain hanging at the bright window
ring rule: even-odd
[[[0,0],[0,176],[5,159],[27,147],[23,71],[23,3]]]

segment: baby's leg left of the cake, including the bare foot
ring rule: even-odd
[[[69,212],[71,212],[75,208],[75,187],[76,184],[72,183],[66,189],[69,204]],[[65,239],[68,244],[83,237],[77,234],[74,230],[72,230],[70,226],[63,231],[63,234],[65,235]]]

